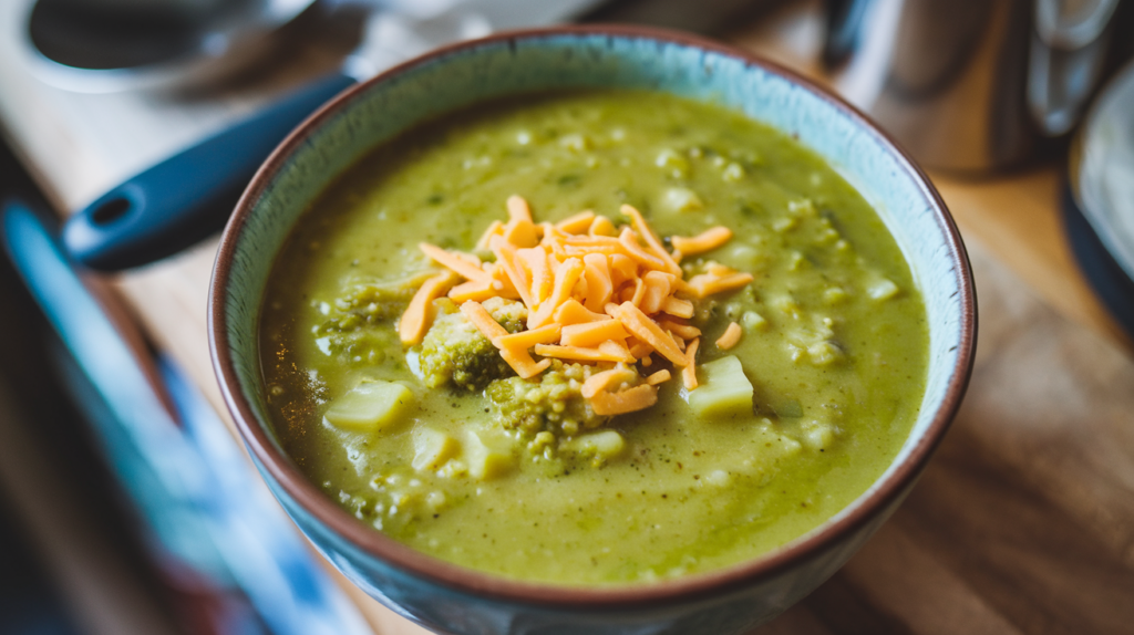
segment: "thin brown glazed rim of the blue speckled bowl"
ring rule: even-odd
[[[906,460],[889,471],[888,475],[875,482],[864,497],[857,499],[852,505],[852,508],[845,510],[846,513],[836,515],[835,518],[826,522],[804,537],[755,560],[671,581],[599,587],[521,582],[454,565],[415,551],[387,538],[380,532],[359,523],[354,516],[342,510],[320,491],[314,483],[310,482],[295,463],[278,449],[270,436],[257,423],[252,406],[239,389],[238,372],[229,352],[229,326],[225,312],[225,300],[231,281],[232,257],[249,214],[268,189],[276,173],[286,165],[288,157],[307,141],[315,129],[335,118],[336,114],[345,109],[346,104],[355,98],[355,96],[367,91],[373,84],[387,81],[406,70],[431,63],[456,52],[475,49],[485,44],[505,42],[509,45],[515,45],[515,42],[519,40],[538,40],[570,34],[638,38],[696,48],[735,58],[750,67],[759,67],[768,74],[780,76],[803,87],[815,96],[829,102],[843,115],[854,121],[863,130],[869,131],[879,146],[892,153],[897,164],[917,182],[925,199],[932,204],[931,212],[945,239],[945,247],[948,249],[948,256],[953,261],[953,271],[956,274],[958,290],[956,301],[960,304],[959,312],[962,320],[958,325],[960,333],[956,362],[953,374],[949,376],[945,398],[939,410],[917,445],[906,455]],[[886,132],[881,131],[854,106],[788,69],[758,58],[746,51],[711,40],[680,32],[641,26],[559,26],[499,33],[485,38],[462,42],[434,50],[345,91],[296,128],[264,162],[260,171],[252,179],[248,189],[244,192],[232,217],[225,229],[209,290],[209,345],[225,403],[231,412],[249,452],[304,509],[346,540],[387,564],[412,573],[424,581],[472,595],[568,610],[572,608],[579,610],[616,610],[669,606],[678,600],[695,601],[708,599],[730,593],[762,580],[770,578],[809,557],[819,556],[824,549],[836,544],[841,537],[865,524],[877,513],[880,513],[894,503],[895,499],[904,496],[908,491],[908,487],[921,474],[933,449],[945,436],[968,386],[976,347],[976,298],[972,271],[960,234],[945,201],[930,182],[929,177]]]

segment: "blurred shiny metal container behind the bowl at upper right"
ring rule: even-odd
[[[836,87],[923,163],[980,171],[1078,121],[1118,0],[828,0]]]

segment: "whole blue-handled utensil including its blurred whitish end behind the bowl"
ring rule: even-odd
[[[111,188],[67,222],[64,244],[76,260],[102,271],[139,266],[176,254],[220,230],[244,186],[276,145],[344,88],[434,46],[492,29],[550,24],[593,2],[471,0],[424,18],[375,11],[367,20],[363,43],[341,72]]]

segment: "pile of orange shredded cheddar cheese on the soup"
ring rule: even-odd
[[[472,254],[421,243],[426,257],[445,271],[417,290],[398,325],[406,345],[422,341],[430,326],[433,300],[448,294],[460,312],[519,377],[536,377],[551,359],[596,367],[582,387],[595,413],[615,415],[650,407],[658,386],[672,379],[668,369],[649,376],[642,369],[660,359],[680,375],[683,386],[697,386],[696,353],[701,331],[688,324],[694,301],[736,291],[751,274],[718,263],[685,278],[684,256],[711,251],[728,242],[728,228],[711,228],[695,237],[670,237],[666,243],[636,208],[624,205],[629,224],[615,223],[592,211],[558,223],[535,223],[527,201],[511,196],[507,222],[494,221],[476,242],[494,263]],[[492,298],[519,300],[527,308],[526,329],[508,333],[481,304]],[[739,341],[729,325],[717,341],[727,350]],[[542,358],[536,361],[533,354]]]

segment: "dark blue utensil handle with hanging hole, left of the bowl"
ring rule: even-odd
[[[100,271],[171,256],[225,226],[260,164],[316,108],[353,85],[332,75],[141,172],[76,213],[64,246]]]

